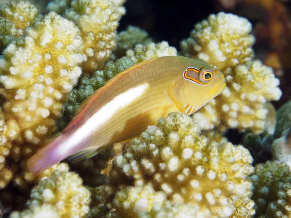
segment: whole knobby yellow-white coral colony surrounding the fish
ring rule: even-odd
[[[254,166],[247,146],[225,137],[228,129],[266,131],[275,119],[270,101],[282,94],[273,69],[255,58],[250,22],[210,15],[178,53],[138,27],[117,33],[124,3],[54,0],[45,15],[29,1],[0,6],[0,200],[6,215],[291,217],[291,104],[278,110],[279,126],[268,131],[278,138],[273,160]],[[37,176],[28,170],[27,160],[108,80],[139,62],[176,55],[217,67],[226,90],[191,117],[171,112],[90,159],[65,160]]]

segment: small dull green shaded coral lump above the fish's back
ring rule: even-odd
[[[117,47],[113,52],[113,60],[125,56],[128,49],[133,49],[138,44],[146,45],[152,41],[146,31],[134,26],[128,26],[126,31],[119,32],[116,39]]]

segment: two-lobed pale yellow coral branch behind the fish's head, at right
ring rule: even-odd
[[[231,127],[259,134],[266,124],[266,103],[281,96],[273,70],[253,61],[250,31],[246,19],[219,13],[197,24],[192,36],[181,42],[183,55],[216,65],[226,77],[226,90],[193,115],[203,129],[220,125],[221,130]]]

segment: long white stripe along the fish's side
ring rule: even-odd
[[[88,139],[97,131],[98,127],[110,120],[118,110],[127,107],[135,99],[143,95],[148,86],[149,84],[145,83],[115,96],[110,102],[90,117],[68,140],[66,140],[64,145],[58,148],[58,152],[65,155],[75,147],[76,144],[81,143],[84,139]]]

